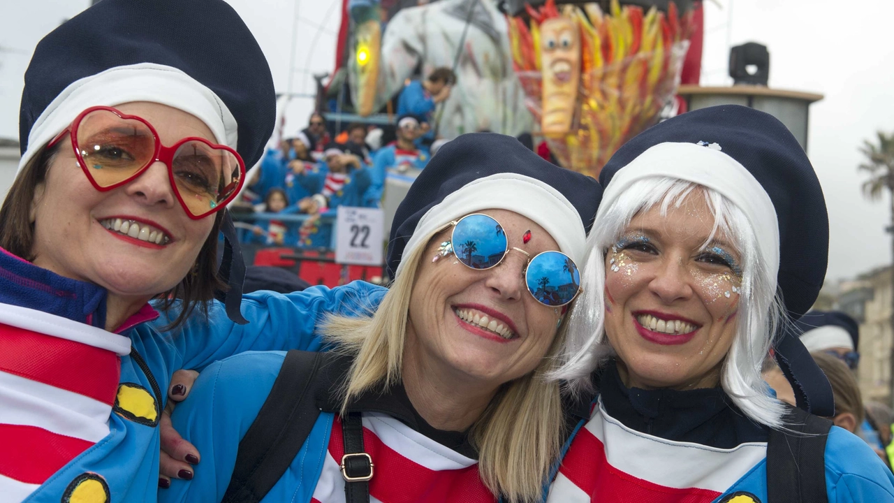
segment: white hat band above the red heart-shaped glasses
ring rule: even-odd
[[[236,118],[214,91],[173,66],[129,64],[74,81],[59,93],[31,126],[28,149],[16,175],[85,109],[133,101],[160,103],[195,115],[214,133],[217,143],[236,149]]]

